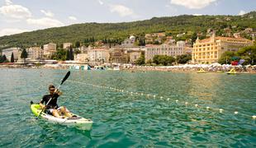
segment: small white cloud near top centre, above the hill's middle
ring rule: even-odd
[[[116,12],[119,16],[132,16],[135,13],[129,8],[123,5],[110,5],[110,11]]]

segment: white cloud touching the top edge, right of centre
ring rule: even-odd
[[[216,2],[217,0],[171,0],[171,4],[181,5],[189,9],[201,9]]]

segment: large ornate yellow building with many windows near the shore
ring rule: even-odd
[[[208,39],[198,39],[193,44],[192,62],[217,62],[225,51],[237,51],[245,46],[253,45],[253,41],[244,38],[220,37],[215,34]]]

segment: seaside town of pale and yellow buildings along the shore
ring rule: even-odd
[[[240,48],[251,46],[254,44],[256,30],[247,28],[244,30],[247,35],[251,36],[252,40],[241,38],[239,33],[228,35],[229,37],[216,36],[214,30],[208,30],[206,39],[197,39],[192,43],[192,39],[175,40],[173,36],[167,36],[165,33],[153,33],[145,35],[145,45],[138,46],[136,35],[130,35],[121,44],[103,44],[102,41],[97,41],[93,46],[79,47],[73,43],[63,43],[64,50],[78,51],[73,52],[73,60],[56,61],[51,59],[52,55],[57,52],[57,44],[49,43],[43,46],[34,46],[26,49],[27,58],[26,66],[50,67],[50,68],[69,68],[77,70],[90,69],[142,69],[142,70],[163,70],[163,71],[190,71],[204,68],[208,71],[228,71],[230,65],[220,65],[218,59],[225,51],[237,51]],[[185,35],[178,34],[177,37]],[[225,35],[227,36],[227,35]],[[152,44],[157,42],[158,44]],[[24,65],[24,59],[21,58],[20,48],[2,49],[2,55],[11,61],[12,54],[14,62],[12,66]],[[153,61],[155,55],[168,55],[176,58],[178,55],[190,54],[192,60],[187,64],[178,65],[173,63],[173,66],[168,67],[141,67],[135,66],[136,60],[145,56],[145,62]],[[256,59],[255,59],[256,61]],[[9,64],[11,65],[11,64]],[[251,69],[255,71],[255,67]]]

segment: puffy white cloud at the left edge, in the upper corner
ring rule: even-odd
[[[32,16],[28,8],[22,7],[21,5],[11,4],[12,2],[9,2],[9,5],[0,7],[0,14],[16,19],[28,18]]]

